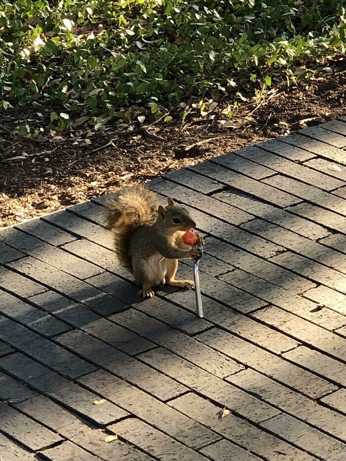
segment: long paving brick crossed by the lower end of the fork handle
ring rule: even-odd
[[[196,310],[194,293],[173,293],[168,296],[173,302],[183,305],[185,308]],[[280,354],[285,350],[292,349],[298,342],[288,336],[271,330],[253,319],[239,314],[234,310],[224,307],[213,299],[202,296],[205,317],[220,327],[236,335],[240,335],[266,349]]]

